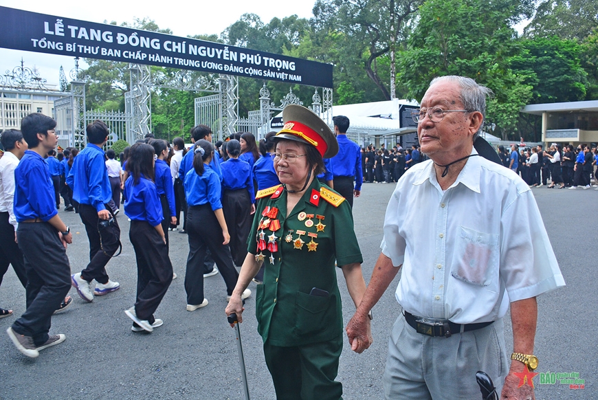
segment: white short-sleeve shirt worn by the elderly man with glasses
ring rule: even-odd
[[[403,265],[403,309],[458,324],[497,320],[509,301],[565,285],[529,186],[480,156],[445,192],[432,160],[410,168],[388,203],[381,249]]]

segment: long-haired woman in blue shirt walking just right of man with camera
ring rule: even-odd
[[[166,232],[162,229],[162,204],[153,181],[154,156],[153,146],[133,144],[127,162],[129,177],[124,183],[124,214],[131,219],[129,239],[137,260],[135,305],[124,311],[133,320],[133,332],[152,332],[162,326],[162,320],[154,318],[153,314],[173,280]]]

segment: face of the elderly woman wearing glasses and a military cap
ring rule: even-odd
[[[274,169],[281,184],[302,186],[309,171],[307,157],[305,157],[305,145],[294,140],[280,140],[276,144],[275,151],[279,154],[302,156],[274,159]]]

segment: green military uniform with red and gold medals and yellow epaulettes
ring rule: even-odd
[[[340,399],[342,385],[334,379],[343,323],[335,260],[339,266],[363,262],[351,207],[318,179],[289,216],[283,186],[256,198],[248,251],[265,263],[256,317],[276,395]],[[314,287],[329,296],[310,295]]]

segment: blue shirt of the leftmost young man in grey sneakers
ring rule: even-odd
[[[54,184],[44,159],[27,150],[14,170],[14,217],[16,222],[39,218],[46,222],[56,214]]]

